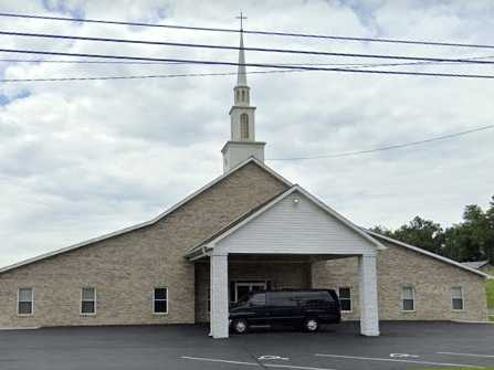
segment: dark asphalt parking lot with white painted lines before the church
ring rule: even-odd
[[[213,340],[204,326],[74,327],[0,331],[0,369],[424,369],[494,368],[494,325],[357,323],[320,332],[255,331]]]

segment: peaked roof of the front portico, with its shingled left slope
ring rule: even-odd
[[[196,260],[196,258],[202,256],[203,254],[207,253],[208,250],[211,250],[210,244],[214,244],[214,243],[221,241],[222,239],[227,237],[228,235],[232,234],[233,232],[235,232],[243,225],[248,224],[252,220],[256,219],[259,215],[263,214],[264,212],[266,212],[267,210],[273,208],[275,204],[283,201],[285,198],[287,198],[290,194],[294,193],[295,191],[299,192],[302,195],[307,198],[311,202],[313,202],[316,207],[322,209],[324,212],[328,213],[329,215],[332,215],[333,218],[338,220],[340,223],[346,225],[348,229],[350,229],[351,231],[357,233],[360,237],[362,237],[364,240],[374,244],[378,250],[386,249],[378,240],[376,240],[371,235],[367,234],[362,229],[360,229],[359,226],[354,224],[351,221],[347,220],[341,214],[339,214],[338,212],[336,212],[335,210],[333,210],[332,208],[326,205],[324,202],[322,202],[314,195],[312,195],[308,191],[303,189],[301,186],[294,184],[286,191],[282,192],[281,194],[266,201],[264,204],[261,204],[256,209],[251,210],[250,212],[241,215],[240,218],[238,218],[237,220],[231,222],[229,225],[227,225],[223,230],[220,230],[214,235],[211,235],[207,240],[202,241],[201,243],[199,243],[198,245],[196,245],[195,247],[189,250],[186,253],[186,257],[188,257],[190,260]]]

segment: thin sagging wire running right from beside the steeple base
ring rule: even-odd
[[[455,138],[455,137],[459,137],[459,136],[464,136],[464,135],[470,135],[470,134],[473,134],[473,133],[484,131],[484,130],[492,129],[492,128],[494,128],[494,125],[477,127],[477,128],[469,129],[469,130],[465,130],[465,131],[460,131],[460,133],[454,133],[454,134],[449,134],[449,135],[443,135],[443,136],[435,136],[435,137],[431,137],[431,138],[428,138],[428,139],[424,139],[424,140],[411,141],[411,142],[404,142],[404,144],[388,145],[388,146],[385,146],[385,147],[367,149],[367,150],[346,151],[346,152],[339,152],[339,154],[333,154],[333,155],[313,156],[313,157],[272,158],[272,159],[266,159],[266,160],[271,160],[271,161],[275,161],[275,160],[276,161],[282,161],[282,160],[312,160],[312,159],[329,159],[329,158],[353,157],[353,156],[367,155],[367,154],[377,152],[377,151],[387,151],[387,150],[395,150],[395,149],[401,149],[401,148],[407,148],[407,147],[413,147],[413,146],[428,144],[428,142],[433,142],[433,141],[439,141],[439,140],[452,139],[452,138]]]

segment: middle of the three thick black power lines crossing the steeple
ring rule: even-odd
[[[473,64],[494,64],[494,61],[480,60],[464,60],[464,59],[444,59],[444,57],[425,57],[425,56],[406,56],[406,55],[386,55],[386,54],[362,54],[362,53],[335,53],[309,50],[292,50],[292,49],[271,49],[271,47],[240,47],[229,45],[212,45],[212,44],[195,44],[185,42],[166,42],[166,41],[145,41],[133,39],[114,39],[114,38],[88,38],[88,36],[73,36],[64,34],[52,33],[30,33],[30,32],[10,32],[0,31],[0,35],[27,36],[27,38],[43,38],[56,40],[80,40],[80,41],[96,41],[96,42],[115,42],[129,44],[146,44],[160,46],[176,46],[176,47],[195,47],[195,49],[214,49],[214,50],[240,50],[263,53],[284,53],[284,54],[303,54],[303,55],[319,55],[319,56],[345,56],[345,57],[366,57],[366,59],[386,59],[386,60],[402,60],[402,61],[425,61],[425,62],[459,62]]]

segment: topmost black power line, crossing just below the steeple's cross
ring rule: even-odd
[[[69,17],[50,17],[50,15],[34,15],[34,14],[20,14],[20,13],[0,13],[0,17],[23,18],[23,19],[40,19],[40,20],[65,21],[65,22],[103,23],[103,24],[114,24],[114,25],[165,28],[165,29],[191,30],[191,31],[208,31],[208,32],[233,32],[233,33],[240,32],[240,30],[238,30],[238,29],[227,29],[227,28],[207,28],[207,27],[191,27],[191,25],[177,25],[177,24],[156,24],[156,23],[145,23],[145,22],[124,22],[124,21],[112,21],[112,20],[69,18]],[[326,40],[355,41],[355,42],[377,42],[377,43],[397,43],[397,44],[431,45],[431,46],[455,46],[455,47],[474,47],[474,49],[494,49],[494,45],[475,44],[475,43],[419,41],[419,40],[403,40],[403,39],[357,38],[357,36],[340,36],[340,35],[314,34],[314,33],[311,34],[311,33],[296,33],[296,32],[245,30],[245,29],[243,30],[243,32],[244,33],[250,33],[250,34],[261,34],[261,35],[307,38],[307,39],[326,39]]]

